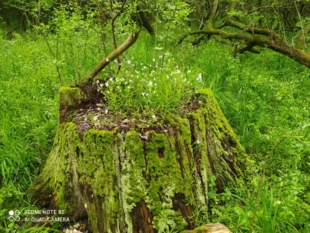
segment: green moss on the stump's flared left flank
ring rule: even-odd
[[[76,209],[80,208],[72,196],[75,199],[81,198],[81,194],[76,190],[77,178],[69,176],[69,174],[76,173],[74,171],[76,168],[75,148],[78,144],[79,139],[76,125],[73,123],[61,124],[58,128],[54,146],[48,157],[46,166],[37,179],[40,185],[37,191],[35,191],[52,193],[56,198],[57,208],[66,210],[68,214],[72,215],[75,215],[75,213],[78,214]],[[72,181],[75,184],[72,184]],[[30,190],[29,193],[32,194],[33,192]]]

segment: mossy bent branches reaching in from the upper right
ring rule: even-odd
[[[288,56],[291,59],[299,62],[300,64],[310,68],[310,53],[307,53],[300,49],[302,45],[305,44],[305,35],[310,32],[310,23],[302,28],[300,34],[297,36],[297,45],[296,47],[294,47],[288,42],[286,38],[286,32],[288,31],[288,28],[285,27],[284,24],[280,24],[278,26],[278,31],[276,32],[274,26],[272,28],[249,26],[246,23],[238,20],[232,14],[229,14],[229,12],[233,12],[238,6],[238,0],[232,0],[230,7],[228,7],[228,10],[220,12],[221,17],[218,17],[219,0],[210,0],[210,4],[211,7],[209,8],[206,27],[204,27],[203,30],[192,31],[190,33],[187,33],[186,35],[183,35],[180,38],[178,44],[182,43],[188,36],[191,35],[198,35],[200,38],[201,35],[207,35],[208,37],[212,36],[221,43],[223,43],[223,40],[230,40],[232,42],[234,42],[234,40],[238,40],[241,41],[243,45],[241,47],[236,47],[234,54],[244,53],[246,51],[252,53],[259,53],[257,46],[260,46],[269,48],[273,51]],[[290,5],[279,6],[278,8],[281,7],[287,7],[289,10],[292,10],[292,7],[294,7],[294,5],[290,3]],[[274,8],[274,6],[271,6],[271,8],[274,9],[275,14],[279,14],[279,12]],[[217,18],[221,18],[222,20]],[[277,18],[279,19],[281,17],[278,16]],[[299,19],[301,21],[300,14]],[[281,30],[283,30],[283,35],[280,35],[281,32],[279,31]]]

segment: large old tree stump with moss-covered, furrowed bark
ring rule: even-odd
[[[207,223],[210,178],[221,192],[241,177],[246,161],[211,91],[198,92],[195,107],[161,126],[126,119],[81,127],[79,109],[96,99],[91,87],[60,89],[58,132],[31,200],[73,220],[88,217],[96,233],[194,229],[197,213]]]

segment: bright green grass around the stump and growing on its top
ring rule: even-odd
[[[79,32],[61,25],[59,34],[32,32],[0,39],[0,230],[4,232],[49,231],[39,226],[19,228],[7,220],[8,211],[30,208],[23,195],[52,146],[59,87],[78,82],[105,57],[102,41],[95,39],[100,38],[99,29],[85,27]],[[190,95],[186,90],[210,87],[255,161],[245,183],[227,187],[222,194],[210,191],[213,221],[225,223],[235,233],[249,232],[256,211],[253,232],[309,232],[309,69],[270,51],[235,59],[231,48],[214,41],[165,50],[161,43],[142,33],[124,55],[121,72],[116,75],[107,69],[100,75],[114,76],[107,87],[110,108],[158,117],[178,111],[180,102],[187,101],[184,94]]]

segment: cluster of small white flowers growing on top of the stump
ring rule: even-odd
[[[165,59],[163,61],[163,58]],[[152,59],[151,64],[138,63],[131,57],[124,63],[123,69],[113,79],[106,82],[107,99],[114,103],[130,102],[133,106],[169,106],[184,97],[184,92],[190,90],[195,82],[202,82],[202,74],[183,71],[177,61],[169,54],[159,54]],[[128,106],[128,105],[127,105]],[[156,118],[153,113],[150,115]]]

